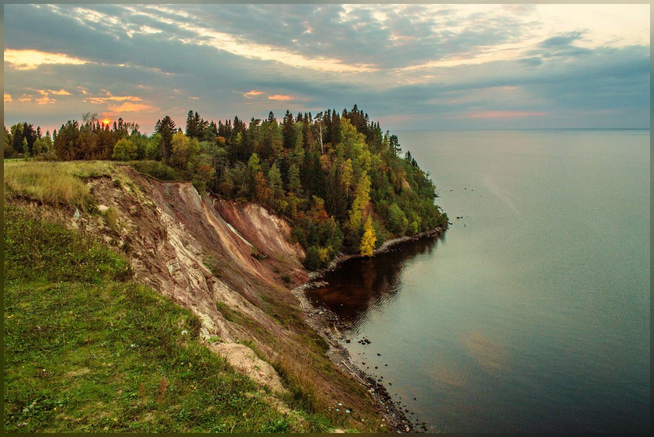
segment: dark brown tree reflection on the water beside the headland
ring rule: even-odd
[[[372,258],[355,258],[327,272],[324,287],[309,289],[307,297],[339,316],[341,322],[356,324],[373,308],[383,308],[402,290],[402,276],[411,261],[431,255],[443,236],[428,236],[398,243]],[[342,304],[342,306],[341,306]]]

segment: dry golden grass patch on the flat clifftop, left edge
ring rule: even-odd
[[[85,208],[89,201],[85,180],[109,176],[112,170],[108,161],[5,161],[5,189],[12,196]]]

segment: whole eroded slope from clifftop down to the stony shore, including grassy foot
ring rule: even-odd
[[[358,412],[356,421],[346,420],[352,427],[381,424],[365,389],[328,359],[328,343],[292,293],[307,280],[305,253],[290,242],[284,219],[257,204],[201,197],[191,184],[155,180],[127,166],[88,186],[102,214],[14,202],[117,246],[136,282],[189,308],[207,346],[273,393],[311,393],[306,402],[317,411],[339,402],[351,406]]]

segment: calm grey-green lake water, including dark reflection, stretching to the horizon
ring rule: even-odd
[[[307,293],[353,360],[432,431],[649,430],[649,131],[398,136],[454,224]]]

